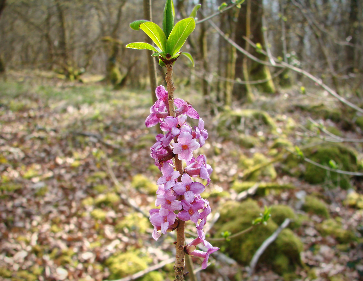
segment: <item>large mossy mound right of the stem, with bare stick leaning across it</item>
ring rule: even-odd
[[[234,201],[226,202],[220,209],[220,219],[214,226],[216,237],[221,233],[229,231],[232,234],[238,233],[252,225],[252,220],[256,219],[261,213],[261,208],[256,201],[251,199],[238,203]],[[214,242],[222,251],[227,252],[239,263],[247,265],[250,263],[254,253],[261,244],[277,229],[277,224],[269,220],[265,225],[258,225],[252,231],[232,238],[230,241]],[[214,245],[213,244],[213,245]],[[300,264],[300,252],[302,243],[298,236],[291,230],[285,229],[278,236],[276,241],[270,245],[260,262],[274,264],[273,268],[282,274],[286,270],[293,270]],[[287,266],[281,265],[284,260]]]

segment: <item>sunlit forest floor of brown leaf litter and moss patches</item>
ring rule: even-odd
[[[362,140],[360,123],[354,123],[360,116],[347,122],[327,93],[302,95],[298,88],[211,116],[199,93],[176,86],[175,95],[193,104],[209,132],[199,149],[214,169],[205,192],[209,221],[242,191],[268,183],[249,197],[261,211],[289,206],[298,221],[291,229],[303,243],[297,265],[287,272],[261,259],[248,277],[248,266],[211,256],[214,264],[198,278],[363,280],[362,177],[326,173],[293,155],[299,153],[295,145],[311,157],[335,145],[322,140],[332,137],[325,131]],[[173,256],[174,238],[155,242],[143,215],[155,206],[160,176],[150,157],[156,129],[144,125],[150,106],[149,91],[16,72],[0,83],[1,280],[112,280]],[[362,172],[362,142],[340,145],[349,149],[339,148],[349,163],[333,153],[330,166]],[[321,182],[307,177],[311,169],[323,175]],[[215,228],[210,233],[220,235]],[[228,245],[223,248],[229,255]],[[193,261],[200,268],[200,260]],[[172,264],[156,272],[142,280],[173,280]]]

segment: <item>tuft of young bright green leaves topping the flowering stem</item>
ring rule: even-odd
[[[195,28],[194,18],[200,6],[200,4],[196,5],[188,18],[184,18],[174,25],[174,4],[172,0],[167,0],[164,8],[163,28],[147,20],[137,20],[130,24],[130,27],[134,30],[143,30],[155,43],[156,47],[148,43],[135,42],[127,44],[126,48],[154,51],[152,56],[159,57],[159,65],[162,67],[173,63],[180,54],[185,55],[194,66],[192,55],[181,52],[180,49]]]

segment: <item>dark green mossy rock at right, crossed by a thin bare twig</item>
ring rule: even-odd
[[[305,157],[324,166],[330,166],[330,160],[333,160],[340,170],[356,172],[358,168],[357,153],[354,149],[343,144],[324,144],[314,146],[303,151]],[[350,177],[343,174],[329,172],[319,168],[316,165],[306,163],[304,178],[307,182],[316,184],[325,181],[331,182],[333,186],[340,186],[343,189],[350,187]]]

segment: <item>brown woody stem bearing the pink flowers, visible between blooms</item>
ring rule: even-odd
[[[173,84],[173,65],[168,64],[166,65],[166,85],[168,89],[168,103],[169,103],[169,115],[176,117],[175,113],[175,105],[174,105],[174,84]],[[176,137],[174,138],[175,142],[178,142]],[[181,165],[181,160],[179,160],[178,155],[175,155],[175,168],[180,173],[180,177],[178,181],[181,182],[181,175],[183,174],[183,166]],[[176,228],[176,255],[175,255],[175,265],[174,265],[174,272],[175,272],[175,281],[183,281],[184,280],[184,245],[185,245],[185,222],[183,220],[178,219],[178,227]]]

